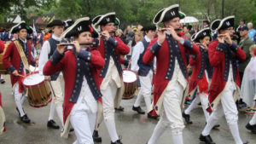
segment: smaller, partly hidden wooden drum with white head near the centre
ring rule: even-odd
[[[134,93],[137,89],[137,75],[131,70],[125,69],[123,71],[123,81],[125,84],[125,93],[123,95],[123,100],[132,99]]]

